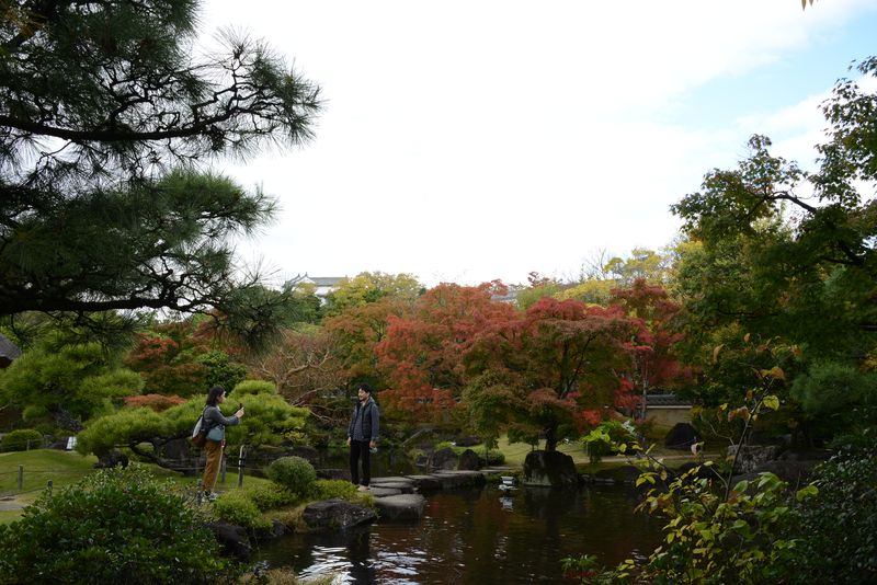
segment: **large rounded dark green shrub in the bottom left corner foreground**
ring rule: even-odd
[[[0,526],[0,583],[214,583],[240,567],[182,496],[137,466],[44,494]]]

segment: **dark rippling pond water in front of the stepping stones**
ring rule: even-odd
[[[565,557],[614,565],[654,549],[661,525],[636,503],[615,486],[440,492],[426,495],[419,523],[294,535],[263,544],[257,559],[305,578],[333,574],[332,583],[573,583]]]

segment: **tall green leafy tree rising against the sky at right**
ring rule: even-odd
[[[857,69],[877,77],[877,58]],[[770,139],[754,136],[737,169],[711,171],[702,191],[672,208],[691,240],[676,290],[690,355],[708,370],[714,348],[731,349],[733,339],[782,339],[795,348],[783,367],[810,417],[836,410],[816,395],[813,380],[867,372],[877,351],[877,95],[842,79],[823,113],[829,140],[817,147],[816,172],[772,154]],[[732,379],[711,377],[709,401],[727,400],[734,385],[716,385]],[[853,386],[845,408],[864,408],[859,420],[873,421],[877,387],[868,376]]]

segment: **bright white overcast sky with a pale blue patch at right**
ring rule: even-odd
[[[225,165],[282,210],[248,263],[524,283],[660,249],[752,134],[811,167],[819,103],[877,54],[877,1],[205,0],[322,88],[316,139]]]

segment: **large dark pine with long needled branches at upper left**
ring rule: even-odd
[[[13,0],[0,11],[0,314],[140,308],[244,316],[228,238],[272,217],[209,170],[311,136],[318,89],[270,47],[195,43],[198,2]]]

